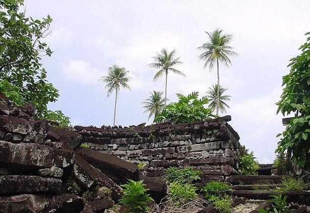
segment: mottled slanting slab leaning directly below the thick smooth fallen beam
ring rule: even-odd
[[[100,170],[92,167],[79,155],[76,155],[76,163],[73,165],[74,177],[85,188],[90,188],[95,181],[99,181],[103,186],[111,190],[112,199],[117,202],[123,195],[122,188],[113,182]]]

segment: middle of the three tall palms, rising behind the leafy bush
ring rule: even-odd
[[[160,53],[157,53],[154,59],[154,63],[149,64],[149,66],[160,69],[154,76],[153,81],[156,81],[160,76],[162,76],[164,73],[166,74],[166,86],[165,86],[165,106],[167,104],[167,77],[168,72],[172,71],[173,73],[176,73],[181,76],[185,76],[184,73],[181,71],[178,71],[177,69],[173,68],[176,64],[182,64],[182,62],[179,61],[179,57],[175,59],[176,55],[176,49],[172,50],[170,53],[167,52],[167,49],[163,48]]]

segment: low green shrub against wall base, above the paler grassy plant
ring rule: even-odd
[[[178,169],[175,167],[169,167],[165,170],[166,180],[169,183],[191,183],[194,180],[200,180],[201,171],[194,170],[193,167],[187,167],[184,169]]]

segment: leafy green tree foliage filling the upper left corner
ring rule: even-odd
[[[0,0],[0,91],[15,105],[32,103],[37,118],[49,119],[49,102],[59,97],[58,90],[46,80],[40,63],[52,51],[42,41],[48,35],[52,19],[26,17],[20,11],[23,0]],[[68,120],[61,111],[62,120]],[[59,120],[58,120],[59,121]]]

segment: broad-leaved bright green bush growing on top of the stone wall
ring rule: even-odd
[[[188,96],[177,94],[178,102],[165,106],[155,117],[155,123],[171,121],[177,123],[190,123],[194,121],[203,121],[215,117],[212,109],[205,108],[203,105],[208,104],[206,97],[198,99],[198,92],[193,92]]]

